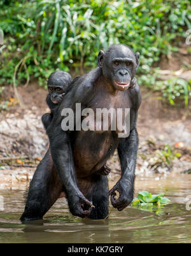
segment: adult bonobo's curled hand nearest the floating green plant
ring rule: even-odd
[[[111,196],[111,204],[114,208],[117,208],[118,211],[124,210],[124,208],[132,202],[133,188],[131,186],[128,188],[128,185],[127,180],[120,179],[108,193],[108,195]],[[115,191],[119,193],[118,199],[115,199],[115,196],[117,196]]]

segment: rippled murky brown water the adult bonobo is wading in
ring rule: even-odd
[[[136,193],[140,190],[164,192],[172,203],[158,214],[110,207],[107,220],[82,220],[69,213],[65,199],[59,199],[43,220],[22,224],[24,191],[0,190],[0,243],[191,243],[191,210],[186,209],[191,174],[138,177]]]

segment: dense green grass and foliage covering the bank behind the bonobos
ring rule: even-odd
[[[141,53],[139,83],[162,91],[171,104],[178,97],[187,106],[190,82],[160,81],[152,67],[185,40],[190,0],[0,0],[0,5],[0,84],[13,82],[18,62],[16,83],[38,78],[45,85],[52,71],[87,71],[96,66],[100,49],[124,43]]]

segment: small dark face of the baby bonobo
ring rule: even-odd
[[[64,97],[64,88],[59,85],[48,85],[48,92],[53,104],[58,104]]]

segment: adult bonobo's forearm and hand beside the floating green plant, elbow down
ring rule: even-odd
[[[122,167],[122,177],[116,185],[111,188],[109,195],[111,195],[111,204],[118,211],[122,211],[125,207],[132,202],[134,194],[134,179],[136,159],[138,152],[138,132],[136,127],[132,129],[128,138],[122,138],[118,145],[118,157]],[[120,196],[115,199],[116,192]]]

